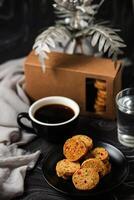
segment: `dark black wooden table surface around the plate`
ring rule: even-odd
[[[120,149],[126,156],[129,163],[129,174],[125,182],[111,193],[105,196],[90,197],[91,200],[134,200],[134,149],[127,148],[119,144],[117,141],[116,122],[81,117],[79,124],[75,130],[76,134],[86,134],[93,140],[101,140],[110,143]],[[42,138],[36,138],[24,148],[29,151],[41,150],[42,155],[35,168],[27,172],[25,178],[25,192],[23,196],[17,197],[15,200],[72,200],[74,197],[65,196],[53,188],[51,188],[43,177],[40,161],[49,151],[56,145],[46,142]],[[78,198],[76,198],[78,199]]]

